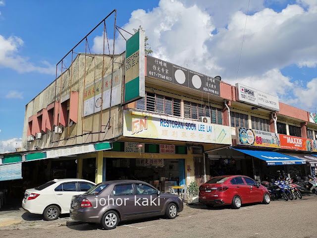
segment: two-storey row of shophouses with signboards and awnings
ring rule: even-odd
[[[219,175],[315,174],[316,115],[150,56],[143,96],[125,100],[126,71],[143,60],[127,59],[114,55],[112,69],[112,55],[79,54],[26,105],[21,148],[0,155],[1,187],[140,179],[164,192]]]

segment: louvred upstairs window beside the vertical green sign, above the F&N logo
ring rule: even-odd
[[[146,92],[146,98],[136,101],[136,108],[180,117],[180,99]]]

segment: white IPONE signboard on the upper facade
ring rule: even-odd
[[[274,112],[279,111],[278,97],[245,86],[241,83],[236,83],[236,97],[239,102],[245,102]]]

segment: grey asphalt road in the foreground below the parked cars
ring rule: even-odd
[[[202,205],[185,205],[183,212],[174,220],[153,218],[122,222],[110,231],[103,230],[100,225],[74,223],[70,218],[67,220],[55,227],[52,227],[52,222],[43,221],[43,225],[36,228],[30,226],[20,230],[19,224],[14,228],[3,227],[0,237],[317,238],[317,196],[271,201],[268,205],[244,205],[238,210],[227,206],[206,208]],[[25,221],[23,224],[26,225]]]

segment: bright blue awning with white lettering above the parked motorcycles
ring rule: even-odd
[[[295,158],[289,155],[283,155],[277,152],[271,151],[263,151],[263,150],[242,150],[242,149],[235,149],[240,151],[244,154],[251,155],[253,157],[257,157],[261,160],[264,160],[267,165],[302,165],[306,164],[305,160],[301,160],[299,158]]]

